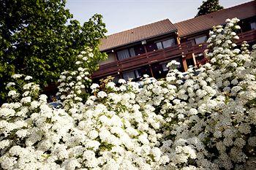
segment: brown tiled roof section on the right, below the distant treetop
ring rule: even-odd
[[[256,1],[249,1],[244,4],[221,9],[217,12],[211,12],[206,15],[184,20],[175,23],[174,26],[178,29],[179,36],[188,36],[200,31],[211,29],[213,26],[225,24],[227,18],[245,19],[256,15]]]

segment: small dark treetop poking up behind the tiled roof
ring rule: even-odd
[[[207,0],[203,1],[203,4],[197,9],[199,11],[197,12],[197,15],[195,17],[218,11],[220,9],[223,9],[223,7],[219,5],[219,0]]]

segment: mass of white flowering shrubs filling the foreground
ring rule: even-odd
[[[84,101],[86,68],[62,73],[64,109],[50,108],[34,83],[18,93],[11,82],[12,102],[0,109],[1,168],[255,169],[256,53],[245,42],[236,48],[237,22],[210,32],[211,64],[186,76],[170,69],[142,87],[92,84]],[[89,57],[87,49],[76,64]]]

